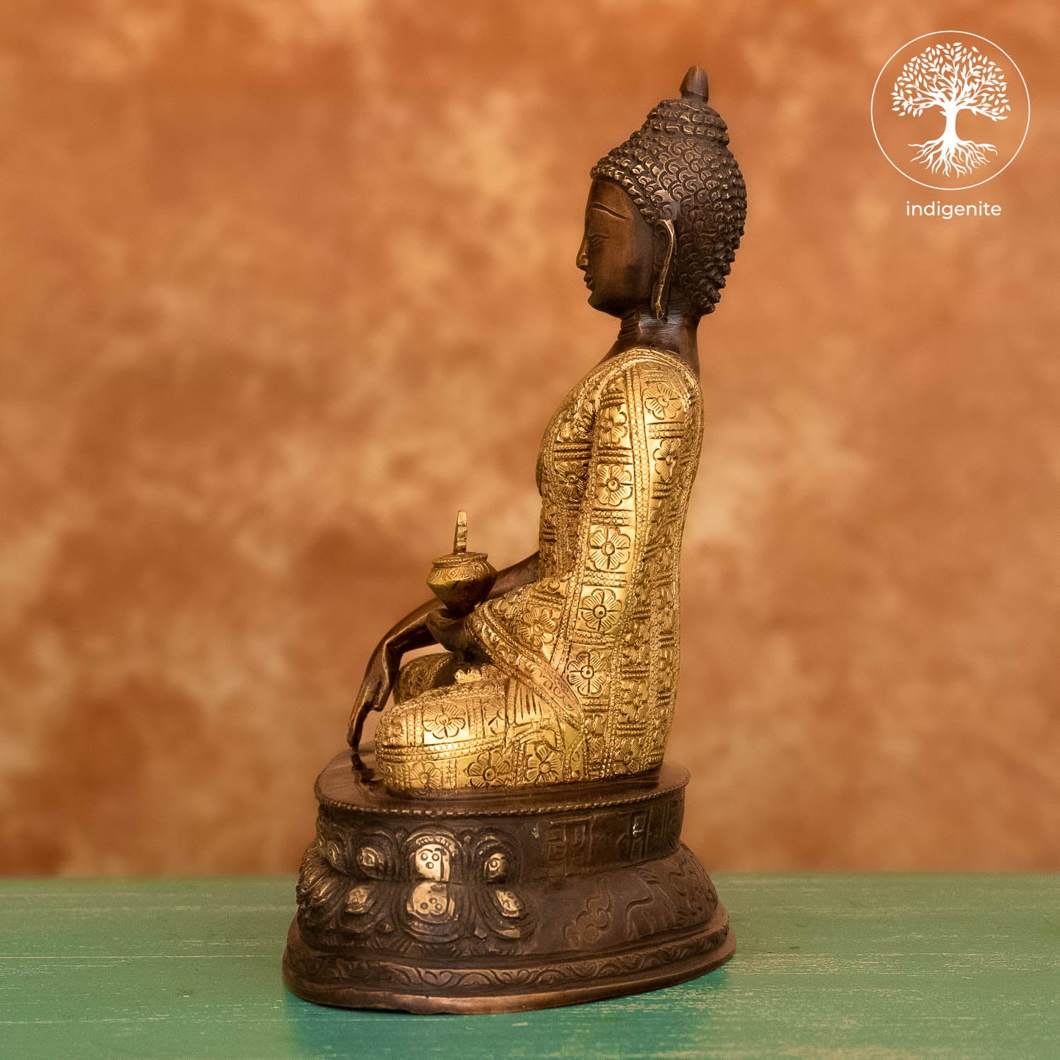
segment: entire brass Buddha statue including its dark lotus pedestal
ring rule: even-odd
[[[689,773],[664,761],[703,439],[695,334],[746,210],[706,74],[591,176],[578,266],[618,339],[545,429],[538,551],[498,572],[461,511],[427,577],[437,600],[372,655],[353,752],[317,778],[287,934],[284,979],[308,1001],[519,1011],[681,983],[735,952],[681,842]]]

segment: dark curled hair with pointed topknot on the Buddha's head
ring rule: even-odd
[[[649,223],[676,236],[671,289],[712,313],[743,235],[747,192],[728,149],[728,129],[707,105],[707,75],[692,67],[679,100],[664,100],[624,143],[593,166],[614,180]]]

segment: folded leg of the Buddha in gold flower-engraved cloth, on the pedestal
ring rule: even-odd
[[[375,732],[390,791],[525,788],[584,778],[584,740],[534,691],[493,666],[388,707]]]

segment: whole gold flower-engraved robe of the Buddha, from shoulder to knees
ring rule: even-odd
[[[633,349],[597,365],[542,441],[541,576],[479,604],[490,664],[403,670],[376,734],[396,790],[598,779],[662,760],[679,665],[678,570],[703,439],[693,372]]]

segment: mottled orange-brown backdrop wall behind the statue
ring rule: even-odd
[[[907,39],[1001,43],[1023,153],[873,142]],[[843,0],[6,0],[0,870],[293,869],[458,506],[535,545],[610,344],[587,171],[703,64],[747,234],[672,753],[712,867],[1060,868],[1060,11]]]

